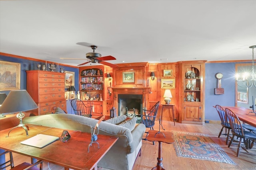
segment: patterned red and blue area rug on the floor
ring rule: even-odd
[[[208,135],[177,131],[172,133],[177,156],[236,164]]]

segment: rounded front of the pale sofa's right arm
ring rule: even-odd
[[[136,150],[139,145],[142,137],[146,131],[146,126],[142,123],[139,123],[135,126],[132,133],[132,143],[129,143],[127,153],[132,153]]]

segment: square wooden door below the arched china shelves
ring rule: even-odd
[[[201,106],[185,106],[184,121],[202,121]]]

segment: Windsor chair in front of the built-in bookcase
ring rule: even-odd
[[[84,102],[80,99],[72,99],[71,107],[75,113],[75,115],[92,117],[92,104],[90,102],[90,106],[86,106]]]

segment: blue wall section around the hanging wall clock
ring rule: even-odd
[[[217,88],[215,74],[221,72],[221,87],[224,94],[215,95]],[[206,63],[205,64],[205,119],[220,120],[213,106],[235,106],[235,63]]]

